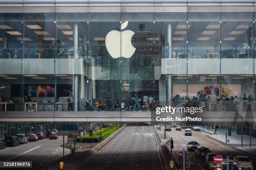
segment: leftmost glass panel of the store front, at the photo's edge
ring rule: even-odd
[[[2,111],[21,110],[22,16],[22,14],[0,14],[0,108]]]

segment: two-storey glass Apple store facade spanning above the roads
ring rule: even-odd
[[[0,122],[146,121],[169,105],[255,115],[251,1],[1,2]]]

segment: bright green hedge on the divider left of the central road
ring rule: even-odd
[[[106,128],[101,129],[101,140],[105,140],[110,135],[115,133],[118,129],[120,129],[122,125],[110,125]],[[82,143],[90,143],[91,142],[91,136],[89,134],[84,135],[83,137],[77,138],[77,142]],[[92,135],[92,143],[99,143],[100,142],[100,130],[97,130],[93,132]]]

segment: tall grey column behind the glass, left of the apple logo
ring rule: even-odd
[[[73,42],[74,42],[74,70],[75,70],[75,60],[78,58],[78,24],[74,24],[74,32],[73,32]],[[78,111],[78,81],[79,81],[79,75],[76,75],[74,72],[74,80],[73,80],[73,111]]]

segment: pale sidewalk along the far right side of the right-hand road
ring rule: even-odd
[[[217,140],[224,145],[230,146],[236,150],[239,150],[248,155],[256,156],[256,138],[251,137],[251,148],[249,147],[250,137],[248,135],[243,135],[243,148],[241,147],[241,135],[237,135],[236,132],[231,132],[231,136],[227,135],[227,140],[229,143],[226,143],[226,130],[218,129],[216,134],[213,133],[213,130],[207,130],[207,128],[200,127],[203,132],[208,133],[209,138]],[[228,133],[228,132],[227,132]]]

